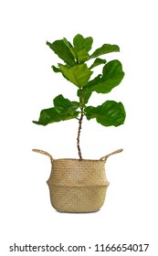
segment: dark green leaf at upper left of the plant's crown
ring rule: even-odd
[[[49,46],[49,48],[51,48],[58,55],[58,57],[63,59],[67,64],[70,66],[75,65],[76,61],[63,40],[57,40],[52,44],[47,42],[47,46]]]

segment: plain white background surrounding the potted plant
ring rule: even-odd
[[[0,4],[0,196],[1,253],[18,245],[86,245],[149,243],[147,252],[109,252],[107,255],[156,255],[157,242],[157,1],[1,1]],[[76,87],[50,68],[58,58],[46,41],[76,34],[93,37],[93,49],[118,44],[126,73],[109,94],[93,93],[90,104],[122,101],[124,125],[105,128],[94,121],[83,124],[81,147],[85,158],[100,158],[118,148],[106,170],[111,183],[104,206],[97,213],[63,214],[51,207],[46,180],[47,156],[78,157],[78,123],[68,121],[37,126],[41,109],[51,107],[62,93],[77,100]],[[71,255],[98,255],[97,252]],[[103,255],[106,252],[102,252]],[[44,255],[34,252],[35,255]],[[19,253],[19,255],[33,255]],[[51,255],[46,253],[45,255]],[[58,255],[62,253],[58,253]],[[64,253],[67,255],[68,253]],[[18,255],[18,253],[13,253]]]

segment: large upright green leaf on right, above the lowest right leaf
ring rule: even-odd
[[[102,69],[102,76],[97,76],[90,80],[85,87],[85,91],[97,91],[98,93],[108,93],[121,83],[124,77],[121,62],[117,59],[108,62]]]

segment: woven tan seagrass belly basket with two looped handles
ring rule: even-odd
[[[43,150],[33,151],[50,157],[51,174],[47,185],[52,207],[59,212],[94,212],[102,207],[110,184],[106,177],[106,160],[122,149],[100,160],[53,159]]]

